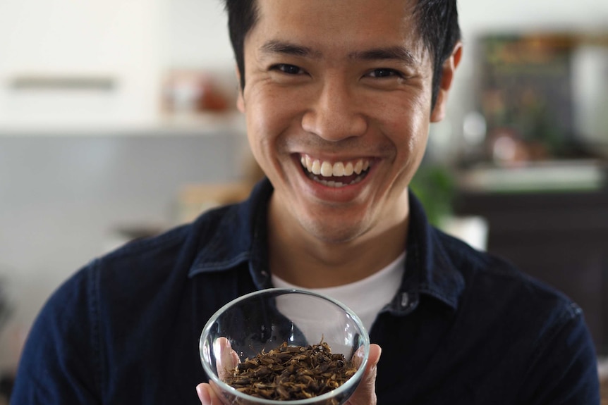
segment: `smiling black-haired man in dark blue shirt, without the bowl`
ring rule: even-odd
[[[15,403],[220,404],[199,384],[202,326],[273,285],[365,321],[351,405],[599,403],[578,306],[434,230],[408,193],[461,58],[455,1],[226,3],[268,180],[68,280],[32,328]]]

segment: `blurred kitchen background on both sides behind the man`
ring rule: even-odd
[[[606,356],[608,1],[490,3],[460,1],[463,61],[413,187],[578,301]],[[236,88],[219,0],[0,2],[0,370],[91,258],[243,198],[259,173]]]

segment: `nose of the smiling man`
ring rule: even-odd
[[[312,96],[302,118],[302,127],[330,142],[359,137],[367,130],[355,90],[341,80],[326,80]]]

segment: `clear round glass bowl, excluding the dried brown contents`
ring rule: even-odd
[[[291,401],[252,397],[221,380],[226,368],[283,342],[289,346],[327,342],[332,354],[354,360],[358,370],[330,392]],[[243,295],[221,307],[202,330],[199,348],[202,367],[219,387],[226,404],[340,405],[353,394],[363,376],[370,338],[358,316],[339,301],[299,289],[271,288]]]

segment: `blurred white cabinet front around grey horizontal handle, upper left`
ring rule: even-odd
[[[135,125],[158,111],[163,0],[0,1],[0,126]],[[107,78],[99,89],[16,89],[23,77]]]

